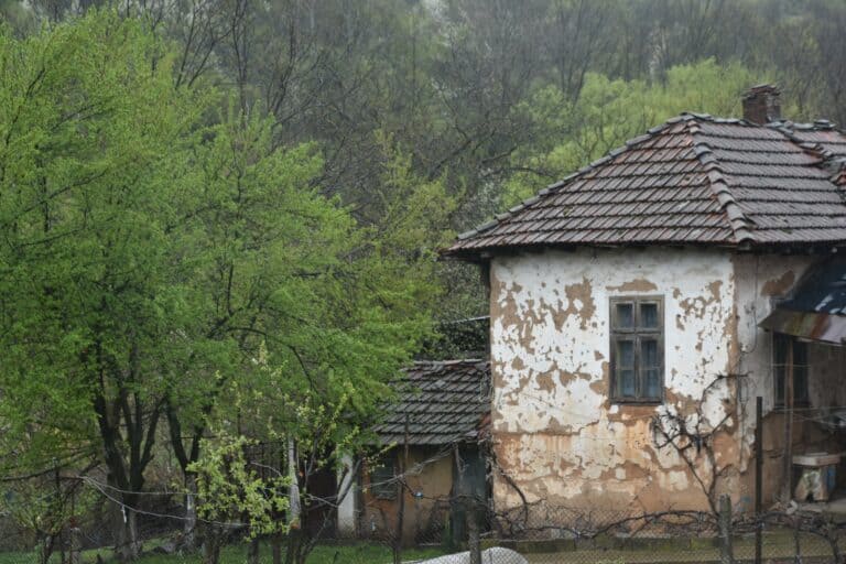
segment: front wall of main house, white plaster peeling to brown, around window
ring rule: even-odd
[[[490,268],[494,449],[499,507],[529,501],[655,510],[705,508],[695,475],[654,447],[662,409],[695,416],[703,390],[731,371],[737,328],[735,267],[726,251],[650,248],[498,257]],[[664,300],[665,404],[608,401],[609,299]],[[740,452],[731,384],[708,394],[718,464]],[[707,473],[707,460],[696,464]],[[728,490],[737,489],[726,484]]]

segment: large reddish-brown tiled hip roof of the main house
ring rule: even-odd
[[[757,126],[683,115],[460,235],[445,253],[843,242],[844,160],[846,134],[825,121]]]

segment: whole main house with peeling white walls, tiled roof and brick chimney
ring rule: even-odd
[[[498,508],[749,508],[759,395],[764,502],[794,457],[839,460],[846,135],[778,96],[673,118],[446,251],[489,280]]]

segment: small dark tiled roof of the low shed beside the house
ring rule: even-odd
[[[415,362],[395,383],[399,398],[373,431],[384,444],[448,445],[475,441],[490,412],[490,365],[482,360]]]

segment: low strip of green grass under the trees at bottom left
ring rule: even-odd
[[[104,561],[110,562],[111,551],[85,551],[83,552],[83,564],[96,562],[97,554],[102,556]],[[413,561],[419,558],[429,558],[440,556],[443,551],[437,547],[415,549],[402,552],[403,561]],[[51,562],[58,563],[58,556],[55,555]],[[247,545],[238,544],[226,546],[220,554],[220,564],[243,564],[247,561]],[[32,552],[7,552],[0,553],[0,564],[34,564],[36,554]],[[139,560],[139,564],[200,564],[203,561],[199,555],[173,555],[173,554],[150,554]],[[270,564],[270,546],[262,546],[261,564]],[[319,545],[315,547],[307,560],[308,564],[389,564],[393,562],[391,550],[383,544],[357,543],[357,544],[336,544]]]

